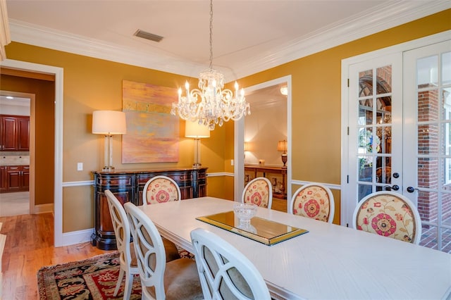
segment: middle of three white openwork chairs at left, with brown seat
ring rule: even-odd
[[[179,258],[166,263],[163,240],[152,220],[135,204],[124,204],[131,220],[142,299],[202,299],[196,263]]]

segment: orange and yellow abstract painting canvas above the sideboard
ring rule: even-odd
[[[127,134],[122,137],[122,163],[178,161],[179,118],[171,115],[176,101],[175,88],[123,80]]]

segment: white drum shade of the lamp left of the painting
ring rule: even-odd
[[[98,135],[123,135],[127,133],[127,123],[123,111],[93,111],[92,133]]]

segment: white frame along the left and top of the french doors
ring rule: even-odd
[[[349,152],[349,136],[347,135],[347,127],[349,125],[349,115],[348,115],[348,101],[349,101],[349,91],[347,89],[347,80],[350,77],[349,66],[354,63],[362,63],[364,61],[369,61],[381,56],[386,56],[390,54],[401,53],[404,51],[409,51],[422,46],[428,46],[430,44],[435,44],[438,42],[443,42],[450,39],[451,30],[440,32],[435,35],[430,35],[428,37],[423,37],[421,39],[415,39],[410,42],[405,42],[402,44],[397,44],[395,46],[390,46],[388,48],[372,51],[359,56],[353,56],[350,58],[345,58],[341,63],[341,209],[340,209],[340,220],[341,225],[347,226],[351,224],[352,221],[352,207],[350,207],[350,201],[344,201],[343,199],[349,199],[349,184],[347,183],[347,175],[350,174],[351,170],[348,170],[348,152]]]

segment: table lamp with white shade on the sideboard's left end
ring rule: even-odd
[[[105,154],[103,171],[112,171],[113,167],[113,135],[127,133],[127,123],[123,111],[93,111],[92,133],[105,136]]]

